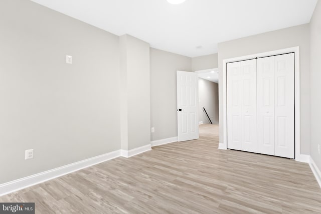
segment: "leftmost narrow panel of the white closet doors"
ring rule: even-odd
[[[241,63],[227,64],[227,146],[242,149]]]

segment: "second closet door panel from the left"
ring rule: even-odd
[[[256,59],[241,61],[242,150],[257,152]]]

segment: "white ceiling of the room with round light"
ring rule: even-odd
[[[220,42],[309,23],[317,0],[32,0],[118,36],[196,57]],[[196,48],[202,46],[202,48]]]

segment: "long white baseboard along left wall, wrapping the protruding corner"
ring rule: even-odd
[[[151,150],[150,144],[134,148],[129,151],[119,149],[106,154],[98,155],[75,163],[64,165],[55,169],[40,172],[38,174],[30,175],[28,177],[3,183],[0,184],[0,196],[78,171],[80,169],[87,168],[89,166],[96,165],[98,163],[105,162],[107,160],[114,159],[116,157],[123,156],[128,158],[149,150]]]

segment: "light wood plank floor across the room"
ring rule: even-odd
[[[200,139],[153,147],[3,197],[36,213],[321,213],[308,164],[219,150],[218,126]]]

